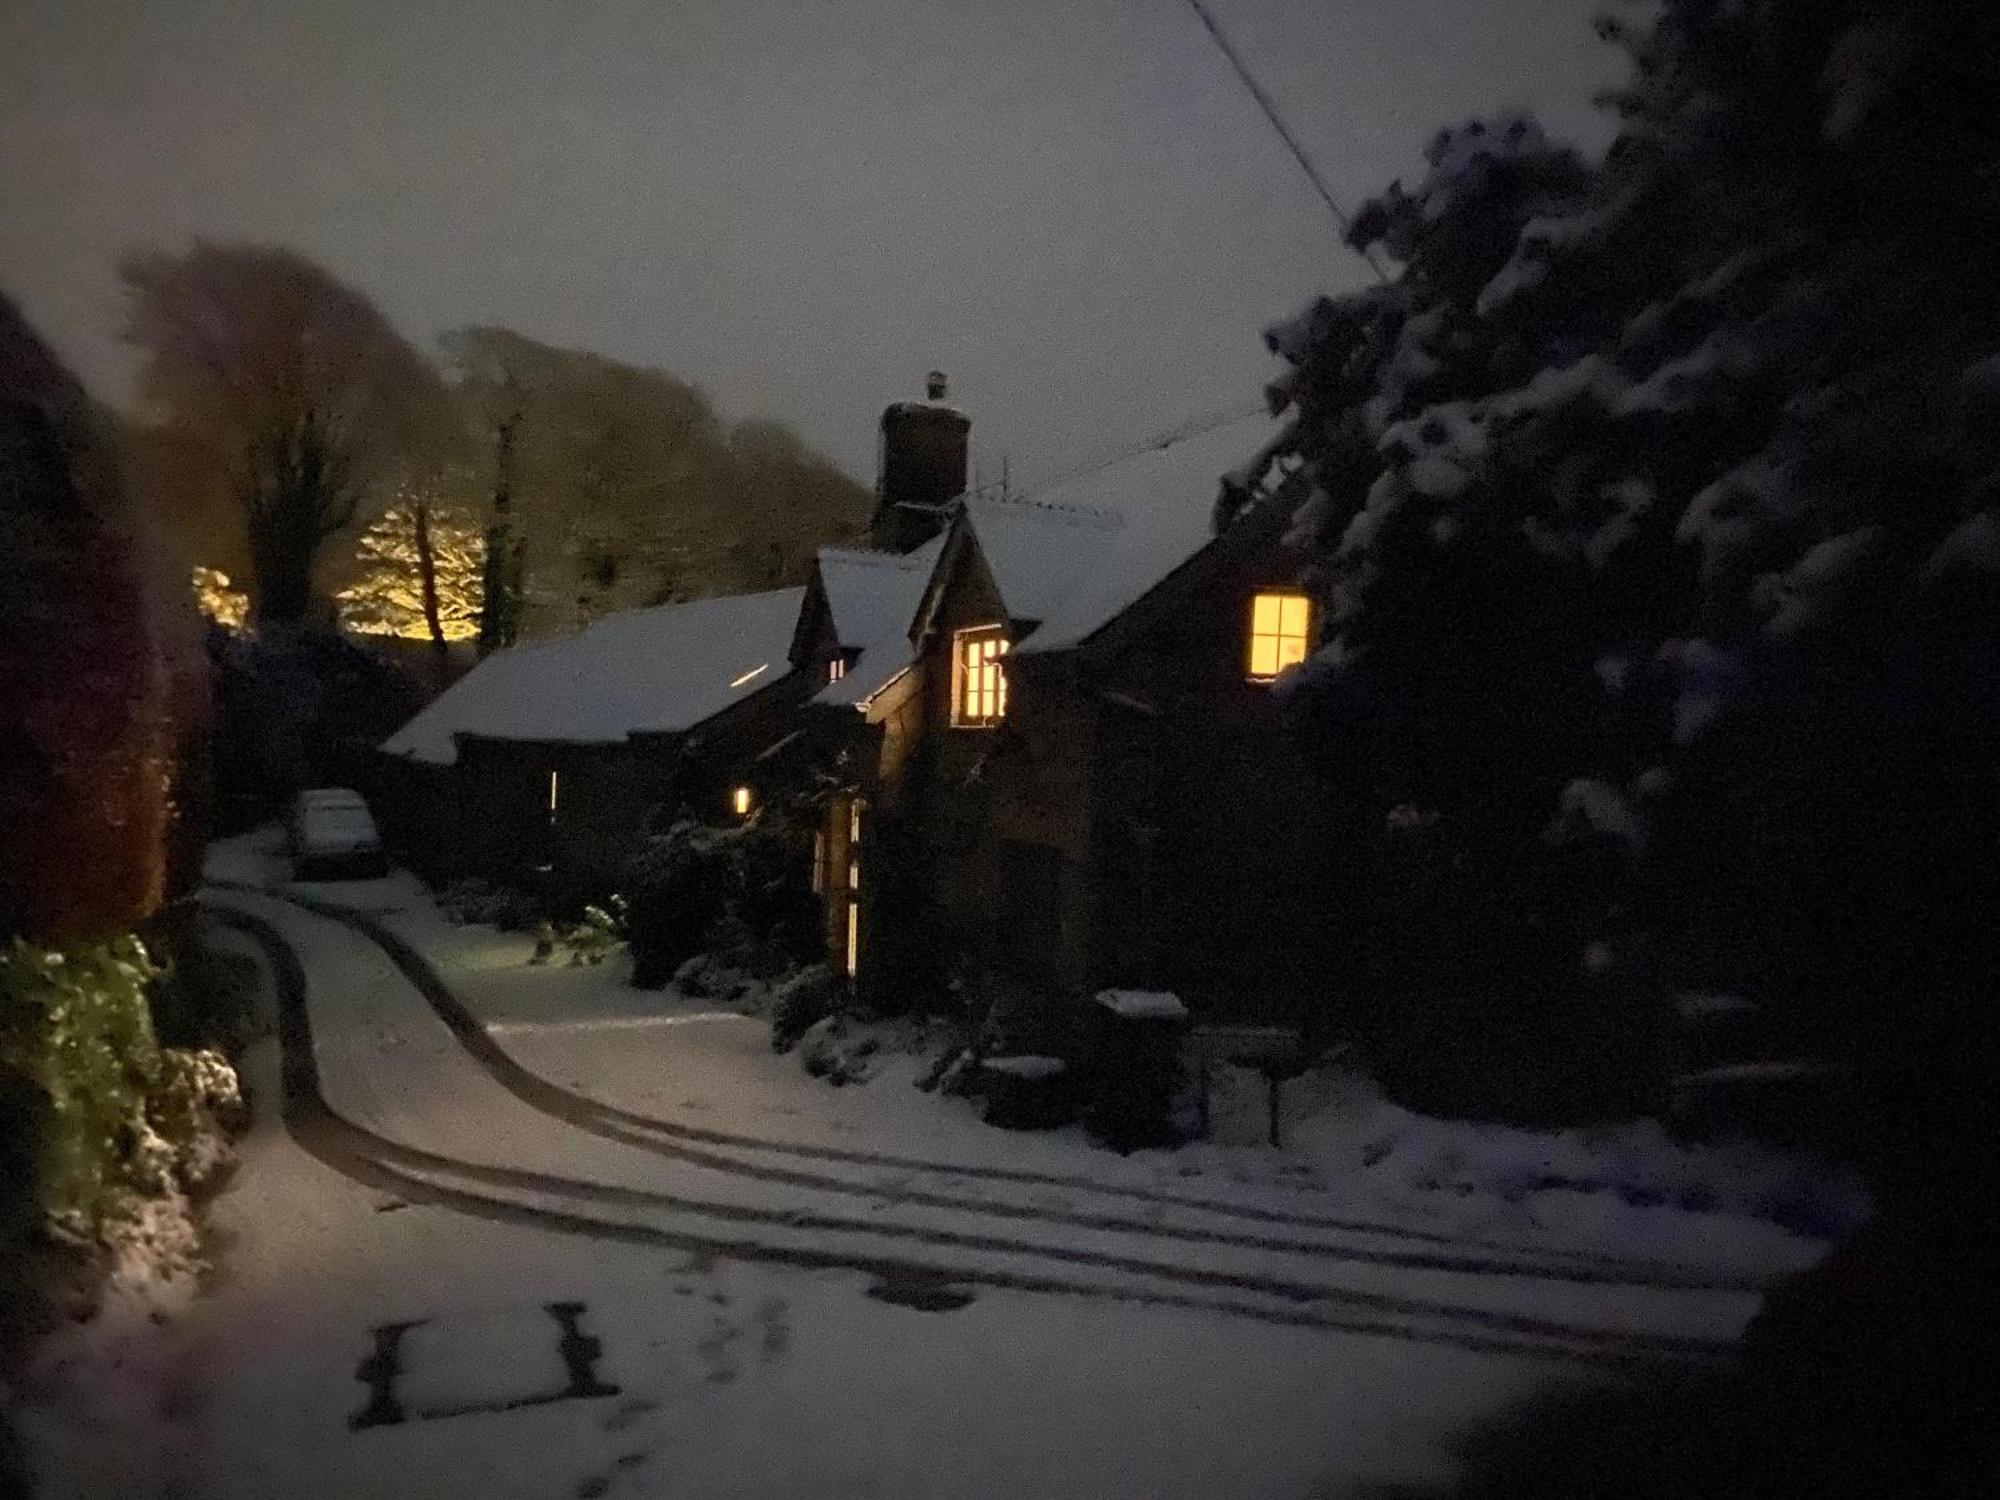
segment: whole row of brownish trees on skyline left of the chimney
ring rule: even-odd
[[[432,530],[470,526],[494,540],[478,606],[492,648],[798,582],[866,514],[862,486],[782,424],[724,424],[662,370],[506,328],[446,334],[432,364],[290,250],[196,242],[132,256],[122,278],[142,352],[126,442],[148,502],[192,562],[248,584],[264,624],[354,590],[342,614],[382,630],[410,598],[406,624],[442,650]],[[358,548],[392,506],[410,546]]]

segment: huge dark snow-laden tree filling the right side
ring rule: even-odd
[[[1332,622],[1288,700],[1382,818],[1384,1024],[1452,996],[1446,1044],[1562,1016],[1632,1058],[1668,982],[1742,986],[1900,1054],[1904,1106],[1972,1096],[2000,18],[1898,14],[1894,48],[1782,0],[1606,22],[1600,166],[1444,132],[1356,214],[1394,280],[1268,332]]]

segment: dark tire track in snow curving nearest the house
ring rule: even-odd
[[[226,882],[214,882],[214,884],[226,884]],[[1510,1278],[1526,1278],[1542,1282],[1568,1282],[1580,1286],[1632,1286],[1632,1288],[1668,1290],[1668,1292],[1758,1294],[1764,1290],[1762,1280],[1700,1276],[1696,1272],[1688,1272],[1682,1268],[1658,1266],[1648,1262],[1620,1262],[1602,1256],[1588,1256],[1564,1250],[1506,1246],[1494,1240],[1476,1240],[1476,1238],[1460,1240],[1448,1234],[1416,1230],[1396,1224],[1380,1224],[1372,1220],[1348,1220],[1348,1218],[1330,1218],[1312,1214],[1282,1214],[1278,1210],[1256,1208],[1250,1204],[1222,1204],[1216,1200],[1194,1198],[1186,1194],[1154,1192],[1148,1188],[1106,1186],[1092,1182],[1090,1178],[1078,1178],[1078,1176],[1028,1172],[1014,1168],[976,1168],[976,1166],[968,1168],[968,1166],[926,1162],[920,1158],[906,1158],[894,1154],[842,1150],[838,1146],[772,1142],[754,1136],[738,1136],[730,1132],[688,1126],[678,1120],[634,1114],[630,1110],[604,1104],[602,1100],[594,1100],[588,1094],[578,1094],[570,1088],[564,1088],[552,1078],[546,1078],[520,1064],[504,1046],[500,1046],[492,1038],[486,1026],[456,996],[456,992],[452,992],[452,988],[436,972],[430,960],[426,960],[406,938],[390,930],[384,922],[378,922],[366,912],[358,912],[348,906],[314,900],[310,896],[298,896],[292,892],[256,892],[250,886],[230,886],[230,888],[252,890],[254,894],[264,894],[276,900],[290,902],[302,910],[312,912],[314,916],[324,916],[332,922],[340,922],[342,926],[352,928],[354,932],[360,932],[388,956],[388,960],[402,972],[406,980],[410,980],[416,992],[424,996],[430,1008],[438,1014],[444,1026],[452,1032],[452,1036],[458,1038],[460,1046],[474,1058],[474,1062],[478,1062],[502,1088],[506,1088],[510,1094],[520,1098],[530,1108],[554,1116],[578,1130],[606,1136],[622,1144],[636,1146],[640,1150],[650,1150],[654,1154],[668,1156],[672,1160],[684,1160],[696,1166],[706,1166],[716,1172],[730,1172],[734,1176],[756,1178],[760,1182],[774,1182],[790,1188],[844,1194],[852,1198],[872,1198],[872,1200],[892,1198],[898,1204],[986,1214],[992,1218],[1012,1218],[1038,1224],[1062,1224],[1070,1228],[1102,1230],[1108,1234],[1146,1236],[1156,1240],[1176,1240],[1184,1244],[1216,1244],[1238,1250],[1260,1250],[1270,1254],[1304,1256],[1312,1260],[1344,1260],[1370,1266],[1388,1266],[1398,1270],[1434,1270],[1434,1272],[1464,1274],[1464,1276],[1510,1276]],[[638,1138],[634,1138],[632,1132],[640,1132]],[[1450,1250],[1374,1250],[1354,1244],[1330,1244],[1326,1240],[1298,1240],[1298,1238],[1278,1238],[1268,1234],[1198,1228],[1192,1224],[1166,1224],[1160,1220],[1140,1220],[1120,1214],[1092,1214],[1092,1212],[1074,1212],[1058,1208],[1038,1208],[1014,1202],[996,1202],[990,1198],[968,1198],[956,1194],[930,1192],[922,1188],[896,1188],[894,1192],[886,1192],[880,1186],[850,1182],[846,1178],[830,1178],[794,1168],[764,1166],[734,1156],[716,1156],[712,1152],[698,1150],[700,1146],[726,1146],[726,1148],[754,1150],[774,1156],[832,1160],[856,1166],[894,1166],[912,1172],[926,1172],[930,1176],[1048,1186],[1070,1192],[1096,1194],[1100,1198],[1126,1198],[1154,1206],[1214,1214],[1220,1218],[1240,1218],[1250,1222],[1280,1224],[1288,1228],[1322,1228],[1342,1234],[1366,1234],[1374,1238],[1400,1238],[1424,1244],[1450,1246]],[[1488,1250],[1488,1252],[1498,1250],[1506,1254],[1466,1254],[1468,1246],[1472,1250]]]

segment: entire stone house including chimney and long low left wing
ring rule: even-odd
[[[1342,870],[1272,696],[1320,630],[1274,424],[1018,500],[964,492],[966,434],[942,380],[890,406],[874,546],[824,548],[804,588],[482,662],[384,744],[422,810],[398,822],[428,818],[446,866],[604,888],[648,816],[788,800],[866,998],[998,980],[1314,1014]]]

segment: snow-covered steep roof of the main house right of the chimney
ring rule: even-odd
[[[1200,552],[1214,538],[1210,518],[1222,476],[1240,468],[1282,426],[1260,412],[1004,506],[1010,512],[1054,506],[1088,512],[1098,518],[1090,532],[1028,526],[1018,518],[1008,518],[1014,524],[1002,530],[990,514],[998,502],[972,502],[972,528],[1008,612],[1042,622],[1018,650],[1082,644]]]

